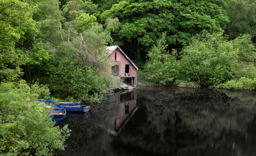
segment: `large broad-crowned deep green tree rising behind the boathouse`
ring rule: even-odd
[[[102,19],[117,17],[121,27],[114,33],[114,39],[133,44],[132,48],[137,49],[136,57],[140,57],[140,49],[145,51],[153,46],[165,31],[166,43],[176,47],[202,30],[221,31],[229,22],[224,6],[222,0],[123,0],[103,12]]]

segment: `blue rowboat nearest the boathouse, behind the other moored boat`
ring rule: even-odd
[[[48,104],[52,104],[50,102],[47,102]],[[59,103],[61,107],[63,107],[66,111],[70,112],[87,112],[90,110],[90,106],[85,105],[73,105],[73,104],[65,104],[65,103]]]

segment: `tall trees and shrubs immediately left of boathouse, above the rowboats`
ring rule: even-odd
[[[106,19],[99,24],[96,16],[91,15],[97,13],[97,5],[90,1],[68,1],[61,10],[59,1],[48,0],[39,3],[38,8],[34,19],[41,23],[38,37],[42,48],[37,53],[45,56],[38,54],[41,62],[26,64],[28,80],[39,78],[60,98],[99,101],[113,81],[108,71],[111,64],[104,48],[99,47],[112,42],[110,32],[119,26],[118,19]]]

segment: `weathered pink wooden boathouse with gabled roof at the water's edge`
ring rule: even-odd
[[[123,52],[123,50],[115,45],[108,46],[106,50],[109,52],[109,57],[112,66],[112,71],[115,77],[124,80],[123,85],[116,86],[118,89],[136,88],[137,83],[137,70],[138,67],[132,60]]]

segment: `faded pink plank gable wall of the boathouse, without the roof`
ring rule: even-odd
[[[115,60],[115,53],[116,53],[116,60]],[[111,57],[111,64],[119,65],[118,76],[120,76],[120,77],[135,77],[134,85],[136,87],[136,83],[137,83],[137,70],[131,64],[131,62],[124,56],[124,54],[118,48],[113,50],[113,53],[110,55],[110,57]],[[128,65],[128,64],[130,65],[130,73],[129,73],[129,75],[125,74],[125,65]],[[118,77],[118,76],[115,76],[115,77]]]

